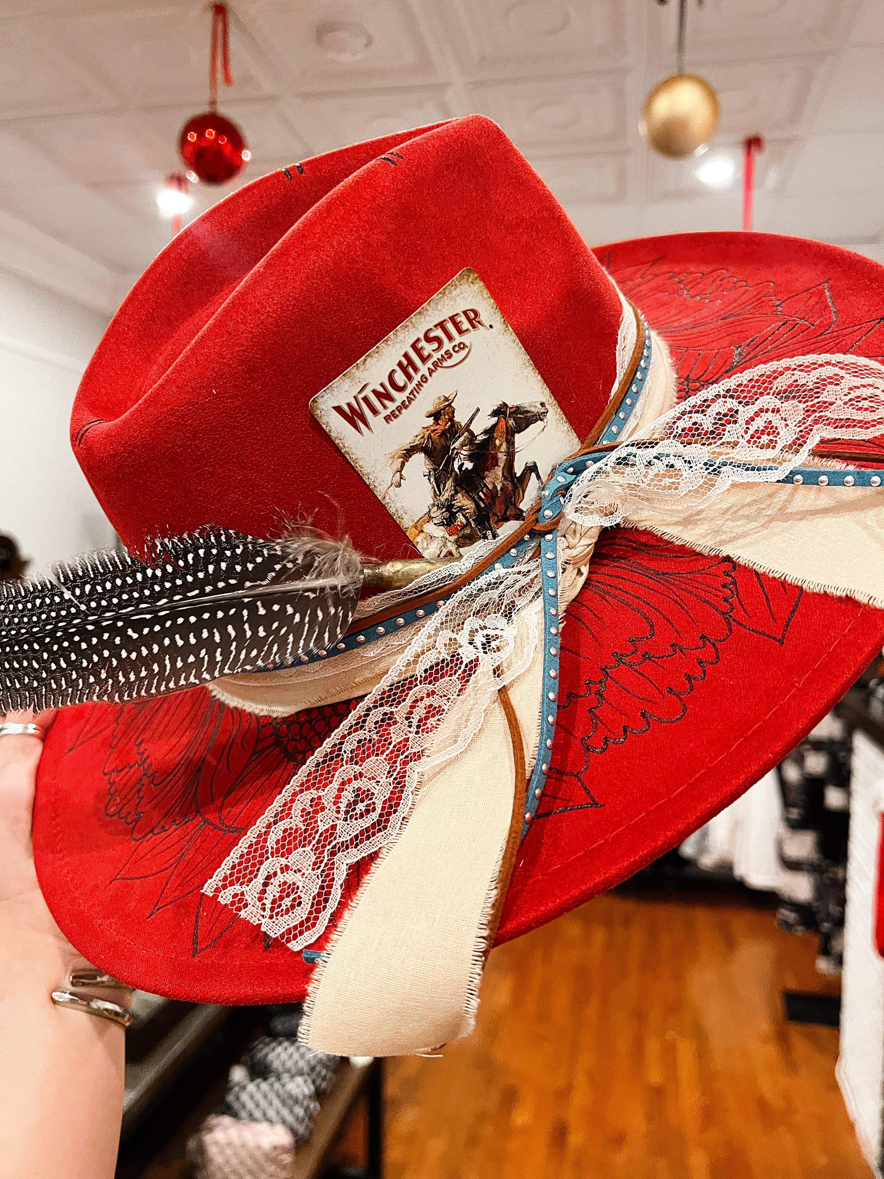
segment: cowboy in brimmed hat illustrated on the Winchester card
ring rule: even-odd
[[[476,436],[470,429],[479,413],[475,409],[469,420],[462,424],[455,417],[455,390],[450,396],[440,396],[425,416],[431,419],[429,426],[390,455],[392,467],[392,487],[401,487],[404,480],[405,465],[423,455],[424,476],[430,483],[429,519],[441,527],[471,526],[480,536],[493,539],[497,534],[488,514],[487,496],[483,494],[481,480],[469,477],[469,460],[476,444]]]

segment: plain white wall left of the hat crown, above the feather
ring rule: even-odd
[[[68,441],[74,393],[107,316],[0,269],[0,532],[28,572],[113,541]]]

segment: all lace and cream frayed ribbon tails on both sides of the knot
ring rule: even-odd
[[[599,527],[624,522],[879,604],[879,493],[771,482],[820,437],[880,434],[882,389],[875,362],[801,358],[732,378],[642,426],[576,481],[566,505],[560,531],[572,552],[582,546],[580,571]],[[759,502],[776,503],[766,527]],[[860,535],[869,552],[857,561]],[[572,580],[576,592],[581,577]],[[298,949],[328,927],[348,869],[382,852],[311,986],[302,1035],[314,1047],[416,1052],[471,1026],[512,814],[496,692],[502,683],[519,691],[530,745],[541,693],[523,627],[537,581],[523,566],[453,597],[206,885]]]

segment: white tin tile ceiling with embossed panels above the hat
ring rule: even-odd
[[[481,111],[592,243],[739,228],[739,184],[649,153],[645,93],[673,72],[677,2],[238,0],[235,85],[245,179],[384,132]],[[687,67],[718,90],[712,151],[761,134],[756,226],[884,257],[880,0],[692,0]],[[156,195],[206,100],[199,2],[6,0],[0,213],[121,276],[169,241]],[[199,211],[229,190],[197,191]]]

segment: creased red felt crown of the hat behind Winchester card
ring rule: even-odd
[[[489,119],[305,160],[192,222],[136,283],[73,407],[74,452],[124,544],[273,536],[309,514],[371,555],[413,553],[309,402],[464,268],[585,436],[614,383],[620,298]]]

